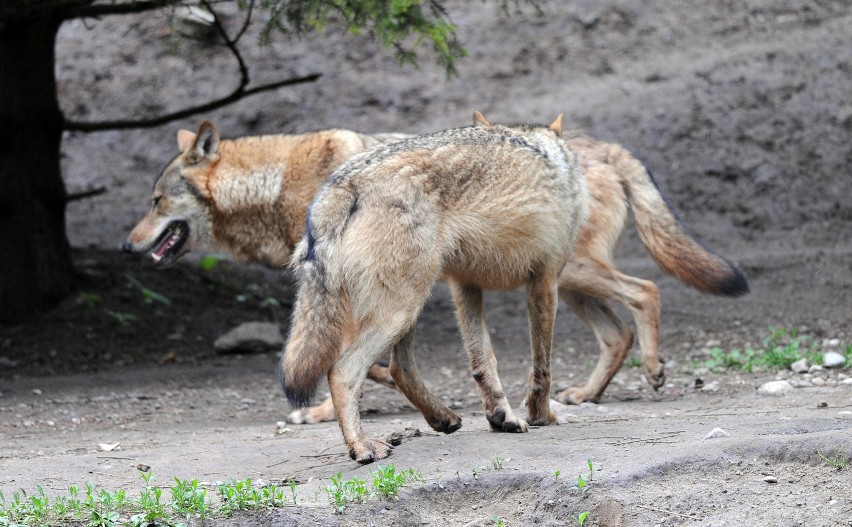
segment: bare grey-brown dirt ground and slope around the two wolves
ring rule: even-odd
[[[247,41],[257,82],[323,76],[205,117],[233,137],[428,132],[466,125],[474,110],[495,122],[565,112],[570,127],[642,159],[683,222],[743,269],[752,293],[721,299],[688,289],[662,275],[628,229],[617,262],[660,286],[667,384],[655,392],[638,368],[624,367],[599,404],[559,408],[559,426],[504,435],[488,431],[438,284],[418,325],[418,360],[463,428],[435,434],[401,395],[368,384],[367,433],[419,429],[388,461],[426,482],[397,501],[335,515],[322,478],[365,477],[371,467],[349,460],[335,423],[279,433],[289,408],[276,353],[218,355],[212,346],[245,321],[285,330],[290,278],[229,262],[203,271],[192,258],[156,271],[117,250],[176,153],[175,132],[201,117],[67,134],[69,192],[106,192],[68,210],[81,294],[32,323],[0,328],[0,490],[41,484],[62,493],[93,481],[133,492],[142,463],[164,484],[173,476],[303,483],[298,508],[215,525],[491,525],[494,517],[573,525],[584,510],[596,526],[852,525],[852,467],[834,470],[816,455],[852,454],[852,384],[844,382],[852,372],[701,367],[709,348],[757,346],[770,326],[826,350],[832,339],[852,341],[848,2],[553,1],[543,14],[509,17],[491,4],[447,5],[470,52],[457,79],[428,56],[420,69],[399,69],[365,37],[331,29],[265,48]],[[235,70],[221,48],[170,36],[165,15],[68,23],[57,55],[62,106],[79,120],[194,104],[226,91]],[[139,284],[169,303],[145,303]],[[487,296],[501,378],[518,406],[530,360],[525,311],[519,291]],[[591,332],[562,306],[556,387],[581,383],[596,355]],[[696,388],[699,378],[711,389]],[[776,378],[795,390],[758,395]],[[705,439],[715,428],[727,435]],[[120,446],[105,452],[100,443]],[[496,457],[506,458],[502,469]],[[587,459],[596,470],[583,497],[576,476]]]

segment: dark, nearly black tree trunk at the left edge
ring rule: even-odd
[[[44,311],[74,286],[54,73],[60,23],[0,21],[0,323]]]

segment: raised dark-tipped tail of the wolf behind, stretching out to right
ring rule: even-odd
[[[630,152],[613,145],[609,162],[625,186],[639,238],[660,268],[703,293],[741,296],[748,282],[728,260],[694,240],[660,194],[651,173]]]

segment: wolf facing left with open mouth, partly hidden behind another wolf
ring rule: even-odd
[[[475,122],[485,124],[481,115]],[[304,232],[308,203],[331,171],[367,146],[404,137],[327,130],[220,141],[218,130],[207,121],[197,134],[181,130],[180,154],[158,178],[151,209],[124,249],[150,251],[158,265],[198,248],[284,266]],[[707,293],[737,296],[746,293],[748,285],[733,265],[683,231],[650,173],[627,150],[580,134],[565,139],[586,173],[591,206],[589,221],[560,276],[559,296],[591,326],[600,357],[585,386],[564,390],[557,398],[567,403],[597,400],[621,367],[633,333],[609,307],[610,301],[632,312],[645,376],[658,387],[664,370],[657,351],[657,288],[621,273],[612,262],[628,208],[640,239],[665,271]],[[280,221],[270,221],[272,217]],[[374,366],[370,377],[393,384],[387,368]],[[334,417],[329,397],[319,406],[294,411],[288,420],[314,423]]]

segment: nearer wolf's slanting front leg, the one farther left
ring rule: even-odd
[[[485,324],[482,290],[450,283],[470,371],[479,385],[485,417],[495,432],[526,432],[527,423],[512,411],[497,375],[497,359]]]

